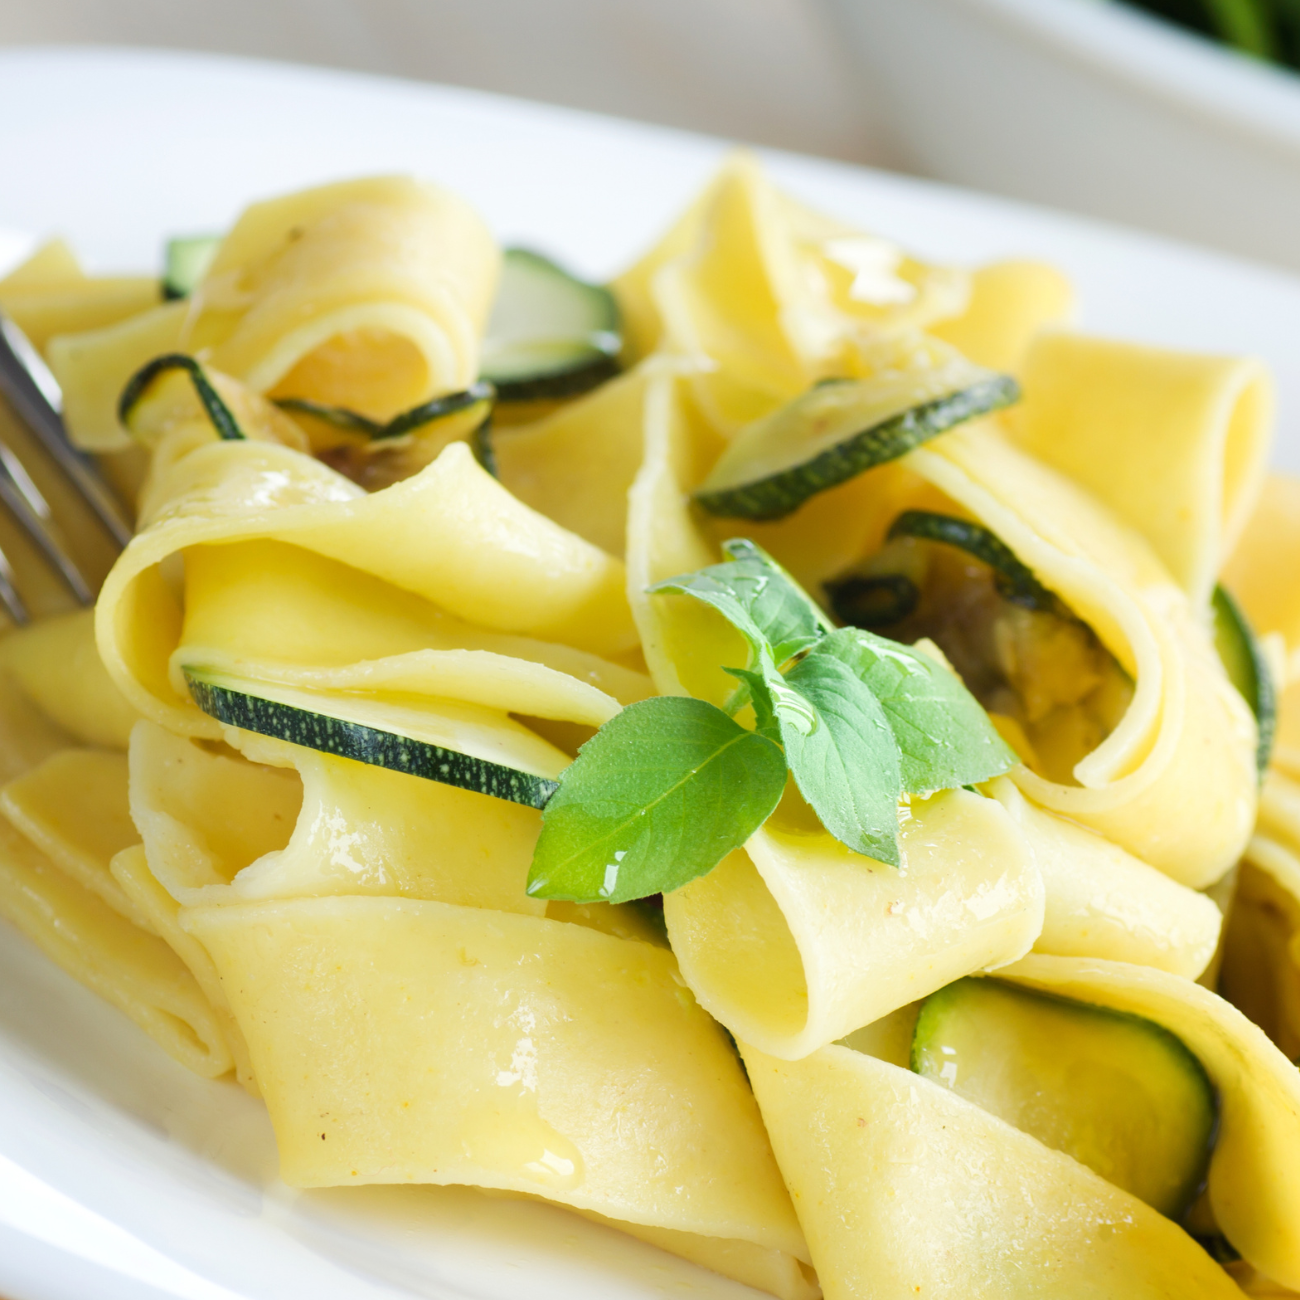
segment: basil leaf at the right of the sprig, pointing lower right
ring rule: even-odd
[[[1019,762],[957,673],[919,650],[840,628],[818,654],[841,659],[880,702],[910,794],[978,785]]]

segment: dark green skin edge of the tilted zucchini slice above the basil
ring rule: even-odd
[[[923,402],[881,424],[863,429],[819,452],[801,465],[768,474],[738,488],[694,493],[710,515],[733,519],[784,519],[810,497],[897,460],[954,425],[1001,411],[1019,400],[1020,386],[1009,374],[971,385],[958,393]]]

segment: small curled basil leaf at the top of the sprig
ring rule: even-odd
[[[734,558],[650,590],[711,604],[749,641],[751,664],[768,646],[781,664],[822,638],[829,628],[826,615],[762,547],[736,538],[724,550]]]

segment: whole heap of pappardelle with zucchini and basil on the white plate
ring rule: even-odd
[[[378,178],[162,289],[0,280],[136,504],[94,611],[38,573],[0,638],[0,914],[287,1183],[783,1300],[1300,1292],[1257,361],[744,155],[610,286]]]

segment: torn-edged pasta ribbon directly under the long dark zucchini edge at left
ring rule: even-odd
[[[131,814],[150,870],[177,902],[376,893],[545,911],[524,892],[534,809],[234,728],[226,736],[252,762],[147,722],[131,737]]]

